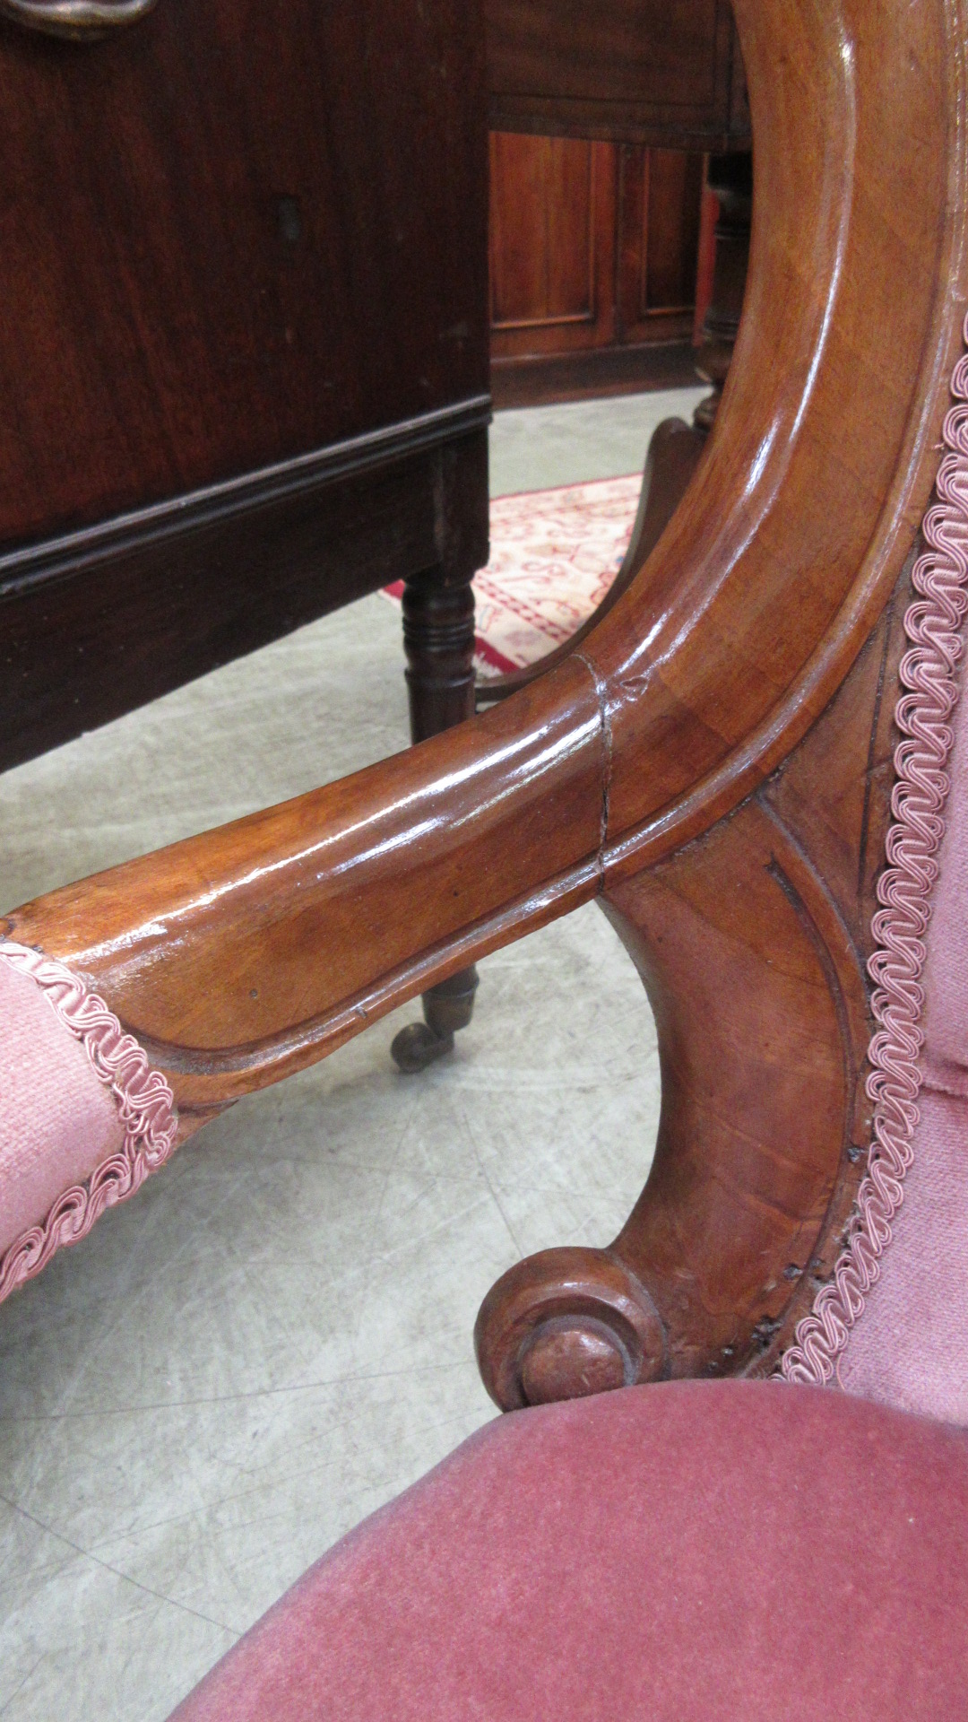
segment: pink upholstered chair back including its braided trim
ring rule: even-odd
[[[968,338],[968,327],[966,327]],[[782,1374],[968,1424],[968,362],[913,568],[870,959],[873,1143]]]

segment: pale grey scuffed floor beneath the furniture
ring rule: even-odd
[[[699,391],[503,413],[493,492],[641,465]],[[0,777],[0,901],[406,739],[379,598]],[[491,1281],[605,1243],[658,1118],[651,1016],[594,906],[482,964],[424,1076],[415,1007],[226,1114],[0,1309],[0,1717],[164,1722],[322,1550],[494,1415]]]

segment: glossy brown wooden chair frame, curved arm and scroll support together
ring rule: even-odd
[[[410,754],[5,923],[103,992],[188,1135],[603,899],[660,1028],[655,1169],[608,1250],[534,1259],[486,1300],[501,1403],[768,1367],[868,1140],[901,615],[968,296],[968,31],[947,0],[735,12],[742,327],[704,460],[610,615]]]

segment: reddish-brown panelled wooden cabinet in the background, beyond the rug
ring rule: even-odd
[[[494,403],[692,381],[703,155],[491,133]]]

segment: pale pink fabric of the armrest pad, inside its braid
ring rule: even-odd
[[[28,975],[0,961],[0,1259],[57,1197],[117,1152],[112,1093]]]

